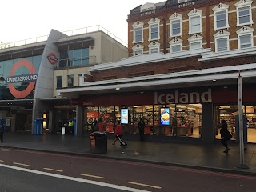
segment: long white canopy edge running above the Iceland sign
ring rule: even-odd
[[[178,85],[187,82],[212,82],[215,80],[229,80],[238,78],[238,70],[241,71],[243,78],[256,76],[256,63],[223,66],[203,70],[189,70],[170,74],[156,74],[150,76],[119,78],[98,82],[84,82],[80,87],[57,90],[58,94],[68,94],[75,92],[90,92],[95,90],[115,90],[116,87],[121,89],[145,87],[145,86],[164,86]],[[246,71],[243,71],[246,70]]]

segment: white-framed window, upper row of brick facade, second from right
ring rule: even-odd
[[[213,8],[214,10],[214,30],[223,28],[229,28],[228,22],[228,9],[229,6],[219,3],[218,6]]]

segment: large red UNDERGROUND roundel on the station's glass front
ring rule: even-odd
[[[14,66],[11,68],[10,70],[10,74],[9,74],[9,78],[7,78],[7,82],[8,82],[8,79],[9,79],[9,90],[10,90],[10,93],[15,97],[15,98],[26,98],[26,96],[28,96],[31,91],[34,89],[34,85],[35,85],[35,81],[36,81],[36,78],[33,78],[33,80],[31,80],[30,76],[29,75],[25,75],[25,76],[15,76],[15,72],[18,70],[19,67],[22,67],[22,66],[25,66],[29,71],[30,71],[30,74],[36,74],[36,71],[34,69],[34,66],[33,64],[26,60],[26,59],[21,59],[19,60],[18,62],[15,62],[14,63]],[[36,75],[35,75],[36,76]],[[36,76],[37,77],[37,76]],[[16,80],[16,82],[29,82],[29,85],[26,87],[25,90],[17,90],[14,86],[14,83],[11,83],[12,80],[11,79],[14,79],[14,81]],[[18,81],[17,81],[18,79]]]

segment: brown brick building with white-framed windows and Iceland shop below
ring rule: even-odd
[[[124,133],[136,138],[143,118],[148,140],[212,144],[220,138],[220,119],[238,137],[240,74],[246,141],[256,142],[255,3],[169,0],[137,6],[127,19],[130,57],[92,67],[78,87],[58,94],[78,105],[83,130],[90,118],[103,118],[107,132],[123,120]]]

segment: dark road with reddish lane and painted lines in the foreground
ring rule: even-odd
[[[0,163],[1,192],[253,192],[256,189],[256,177],[253,176],[32,150],[1,148]]]

